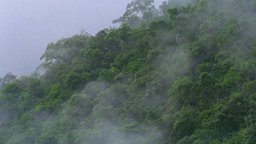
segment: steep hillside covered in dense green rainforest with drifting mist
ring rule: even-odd
[[[256,0],[134,0],[0,79],[0,144],[255,144]]]

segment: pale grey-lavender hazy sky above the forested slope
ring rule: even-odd
[[[114,26],[132,0],[1,0],[0,77],[30,75],[50,42]],[[164,0],[155,0],[156,8]]]

